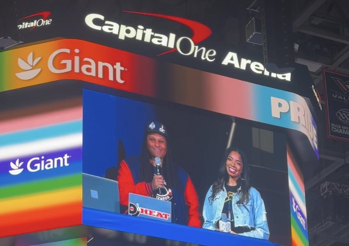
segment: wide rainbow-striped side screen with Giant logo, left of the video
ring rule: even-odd
[[[82,99],[1,116],[0,237],[81,224]]]

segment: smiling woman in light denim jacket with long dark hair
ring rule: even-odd
[[[265,205],[250,184],[250,168],[242,150],[229,147],[225,151],[218,180],[206,194],[202,215],[204,229],[269,239]]]

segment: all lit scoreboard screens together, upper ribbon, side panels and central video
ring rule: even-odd
[[[24,78],[27,54],[40,71]],[[318,144],[303,97],[78,39],[7,58],[2,236],[83,224],[199,245],[307,245],[297,163]]]

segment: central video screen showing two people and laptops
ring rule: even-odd
[[[84,89],[83,207],[291,245],[287,138],[240,118]]]

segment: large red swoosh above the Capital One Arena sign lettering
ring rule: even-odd
[[[183,24],[183,25],[189,27],[193,31],[193,36],[191,37],[191,39],[194,42],[194,44],[198,44],[198,43],[204,41],[212,33],[211,29],[209,27],[205,26],[204,24],[201,24],[200,22],[197,22],[197,21],[184,19],[181,17],[162,15],[162,14],[152,14],[152,13],[145,13],[145,12],[135,12],[135,11],[122,11],[122,12],[154,16],[154,17],[159,17],[159,18],[166,19],[166,20],[176,21],[180,24]],[[171,50],[168,50],[166,52],[159,54],[158,56],[165,55],[165,54],[171,53],[171,52],[176,51],[176,50],[177,50],[177,48],[173,48]]]

